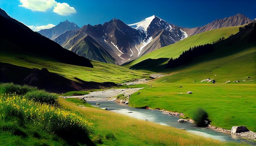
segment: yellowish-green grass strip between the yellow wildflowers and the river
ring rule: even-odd
[[[89,137],[96,145],[236,145],[99,108],[79,106],[68,100],[59,99],[71,111],[86,115],[94,123],[94,133]]]

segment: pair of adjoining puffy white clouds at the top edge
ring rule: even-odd
[[[63,2],[56,2],[55,0],[19,0],[20,7],[30,9],[32,11],[50,11],[53,9],[53,12],[59,15],[71,15],[76,13],[74,7],[70,7],[69,4]]]

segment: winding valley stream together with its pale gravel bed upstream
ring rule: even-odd
[[[164,75],[155,74],[153,77],[162,77]],[[136,82],[129,82],[126,84],[141,84],[143,82],[148,82],[145,79],[137,80]],[[209,137],[217,139],[223,142],[237,142],[245,143],[256,146],[256,141],[242,139],[236,135],[230,135],[227,133],[222,133],[215,131],[207,127],[196,127],[195,124],[185,122],[177,122],[179,117],[171,116],[169,114],[164,114],[162,111],[150,110],[150,109],[141,109],[141,108],[132,108],[124,104],[119,104],[115,102],[117,95],[123,94],[124,96],[130,96],[132,93],[139,91],[142,88],[125,88],[125,89],[107,89],[105,91],[94,91],[88,95],[83,96],[74,96],[73,98],[84,98],[92,106],[97,106],[108,111],[120,113],[123,115],[128,115],[137,119],[142,119],[146,121],[155,122],[158,124],[172,126],[179,128],[181,130],[186,130],[188,132],[200,135],[203,137]],[[72,97],[71,97],[72,98]]]

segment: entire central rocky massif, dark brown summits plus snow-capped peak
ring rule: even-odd
[[[88,24],[54,41],[86,58],[123,64],[186,37],[180,27],[153,15],[130,25],[115,18],[103,25]]]

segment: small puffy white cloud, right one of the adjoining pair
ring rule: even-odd
[[[53,11],[59,15],[71,15],[72,13],[76,13],[76,10],[74,7],[70,7],[69,4],[63,2],[63,3],[57,3],[57,7],[54,7]]]

